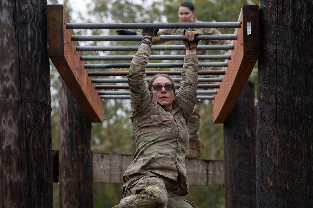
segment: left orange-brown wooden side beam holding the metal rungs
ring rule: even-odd
[[[74,98],[92,122],[102,122],[102,101],[88,77],[82,52],[75,51],[77,41],[71,41],[74,31],[66,29],[69,20],[63,5],[48,5],[48,56],[59,71]]]

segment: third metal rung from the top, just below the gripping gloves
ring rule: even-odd
[[[138,51],[139,46],[76,46],[76,51]],[[197,50],[233,50],[234,45],[198,45]],[[185,51],[185,46],[151,46],[151,51]]]

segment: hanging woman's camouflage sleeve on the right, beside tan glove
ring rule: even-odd
[[[197,99],[198,56],[196,54],[185,56],[181,84],[175,104],[184,108],[184,117],[188,123]]]

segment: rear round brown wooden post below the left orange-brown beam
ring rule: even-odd
[[[59,206],[93,207],[91,122],[59,77]]]

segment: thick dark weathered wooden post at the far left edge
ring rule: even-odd
[[[0,3],[0,207],[52,207],[47,1]]]

